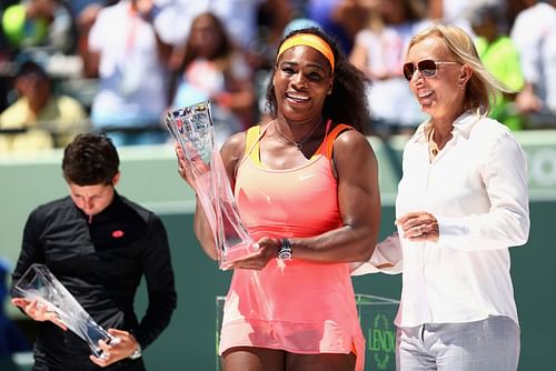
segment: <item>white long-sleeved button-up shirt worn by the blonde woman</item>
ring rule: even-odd
[[[438,242],[403,249],[401,304],[396,324],[468,322],[517,310],[509,274],[509,247],[529,232],[525,153],[502,123],[469,112],[431,161],[423,123],[406,144],[396,217],[433,213]]]

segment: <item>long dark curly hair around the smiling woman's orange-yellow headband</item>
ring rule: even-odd
[[[320,31],[318,28],[306,28],[291,31],[288,33],[278,46],[280,46],[297,33],[312,33],[325,40],[334,52],[334,84],[332,92],[326,97],[322,107],[322,116],[326,119],[331,119],[336,123],[346,123],[353,126],[358,131],[363,132],[368,127],[370,121],[370,111],[367,103],[366,89],[370,80],[366,79],[361,71],[349,63],[348,59],[338,46],[338,42]],[[276,73],[276,64],[270,77],[270,82],[267,88],[267,110],[272,118],[276,118],[278,102],[276,100],[275,86],[272,77]]]

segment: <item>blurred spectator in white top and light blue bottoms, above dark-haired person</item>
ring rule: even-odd
[[[108,131],[117,147],[162,143],[168,138],[159,123],[169,106],[172,48],[159,34],[168,26],[159,21],[158,2],[121,0],[81,14],[87,37],[80,49],[83,71],[99,79],[92,126]]]

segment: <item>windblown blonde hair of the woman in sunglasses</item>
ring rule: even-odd
[[[411,38],[408,51],[416,43],[431,37],[443,39],[455,60],[469,66],[473,70],[473,74],[466,84],[464,98],[464,108],[466,110],[473,110],[478,114],[486,116],[490,112],[492,102],[495,101],[498,91],[513,92],[486,70],[473,39],[456,26],[440,22],[434,23]]]

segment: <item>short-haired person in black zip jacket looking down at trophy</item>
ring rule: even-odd
[[[169,324],[176,309],[173,270],[161,220],[118,194],[118,152],[106,136],[79,134],[62,161],[70,195],[38,207],[23,232],[13,284],[33,263],[46,264],[92,319],[119,341],[101,342],[102,358],[53,312],[13,298],[40,322],[33,370],[145,370],[141,349]],[[145,277],[149,305],[139,321],[133,300]],[[16,291],[12,290],[12,297]]]

